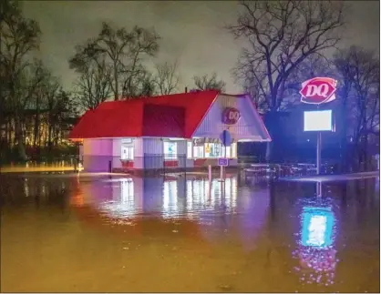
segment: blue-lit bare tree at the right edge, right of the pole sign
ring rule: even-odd
[[[379,132],[380,124],[379,59],[374,52],[352,46],[335,56],[335,66],[347,84],[345,121],[352,130],[358,159],[366,164],[368,137]]]

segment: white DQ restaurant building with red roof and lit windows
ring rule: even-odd
[[[237,166],[238,142],[271,140],[251,96],[217,91],[103,102],[69,138],[89,172],[193,169],[217,166],[220,157]]]

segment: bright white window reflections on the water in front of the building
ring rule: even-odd
[[[237,206],[235,177],[222,183],[207,179],[120,178],[90,186],[89,202],[116,218],[133,218],[142,212],[146,216],[160,213],[162,218],[198,218],[203,210],[234,213]],[[112,191],[111,198],[107,191]]]

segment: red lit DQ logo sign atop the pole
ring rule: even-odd
[[[314,77],[302,83],[301,102],[323,104],[335,100],[337,81],[331,77]]]

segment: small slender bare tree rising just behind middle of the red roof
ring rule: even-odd
[[[176,91],[179,84],[179,75],[177,74],[177,62],[170,64],[165,62],[156,65],[155,84],[158,87],[160,95],[169,95]]]

